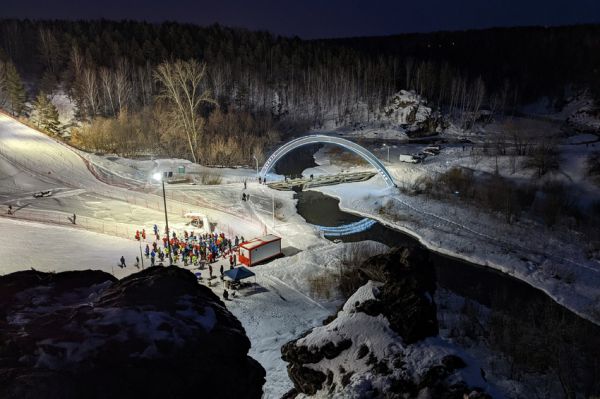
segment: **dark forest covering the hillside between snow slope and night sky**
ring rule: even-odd
[[[569,89],[600,92],[600,25],[331,40],[133,21],[0,21],[0,107],[72,144],[250,164],[287,135],[369,122],[400,89],[461,127]],[[187,103],[186,103],[187,102]],[[560,104],[557,104],[559,106]],[[357,112],[361,110],[361,112]]]

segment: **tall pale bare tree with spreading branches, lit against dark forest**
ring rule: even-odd
[[[155,71],[155,78],[162,85],[159,98],[172,107],[173,120],[185,134],[195,163],[198,162],[197,145],[203,125],[200,105],[216,104],[210,91],[202,88],[205,76],[206,65],[196,60],[166,61]]]

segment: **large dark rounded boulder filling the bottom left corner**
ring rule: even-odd
[[[0,397],[260,398],[240,322],[189,271],[0,277]]]

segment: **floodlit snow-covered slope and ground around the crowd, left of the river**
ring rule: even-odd
[[[181,165],[198,175],[219,174],[222,181],[218,185],[166,185],[172,230],[191,230],[182,213],[196,211],[208,215],[215,228],[229,236],[250,238],[274,231],[284,237],[285,253],[297,253],[253,268],[257,284],[227,302],[250,337],[250,355],[267,370],[265,397],[278,398],[292,388],[281,360],[281,345],[319,325],[338,304],[335,298],[310,298],[306,277],[339,270],[343,246],[320,238],[296,214],[292,193],[271,192],[259,185],[254,170],[207,169],[181,160],[133,161],[85,154],[0,115],[0,202],[5,207],[0,217],[0,273],[32,267],[56,272],[91,268],[122,278],[136,272],[134,263],[140,247],[133,240],[135,230],[150,232],[155,223],[162,230],[164,221],[161,193],[156,183],[150,186],[148,177],[156,171],[176,171]],[[241,200],[244,181],[245,192],[250,194],[246,202]],[[33,197],[33,193],[47,190],[52,196]],[[273,225],[274,203],[277,218]],[[8,205],[17,209],[14,216],[7,217]],[[76,226],[67,219],[73,213],[77,214]],[[92,228],[98,225],[107,234],[86,230],[98,230]],[[150,237],[147,242],[151,242]],[[128,265],[125,269],[117,266],[121,256]],[[148,260],[145,262],[148,266]],[[213,267],[218,270],[219,265]],[[222,294],[220,283],[211,288]]]

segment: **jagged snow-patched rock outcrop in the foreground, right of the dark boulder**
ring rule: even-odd
[[[469,366],[435,337],[435,275],[424,251],[393,249],[360,273],[367,281],[336,318],[282,347],[294,382],[286,398],[489,398],[466,382],[476,372],[463,375]]]

